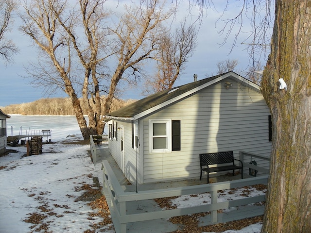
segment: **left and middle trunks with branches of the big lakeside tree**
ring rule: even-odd
[[[98,102],[95,104],[95,111],[86,102],[88,102],[89,85],[92,86],[95,95],[99,96],[96,67],[103,59],[97,57],[99,43],[102,42],[102,33],[97,29],[103,21],[104,13],[101,8],[102,1],[92,1],[92,4],[89,4],[87,0],[81,0],[79,3],[80,11],[67,14],[66,1],[31,1],[29,5],[25,4],[26,16],[22,17],[24,26],[21,30],[41,49],[43,62],[28,70],[35,76],[33,83],[43,85],[47,89],[53,87],[50,91],[60,87],[69,95],[82,135],[87,138],[89,134],[96,134],[97,126],[101,125],[99,121],[101,108]],[[78,41],[78,35],[74,33],[75,25],[84,30],[86,46]],[[77,56],[73,62],[74,55]],[[81,67],[77,69],[82,73],[84,70],[83,78],[77,77],[81,74],[73,71],[78,61]],[[92,82],[89,81],[90,79]],[[84,110],[76,93],[79,90],[77,85],[82,89],[81,94],[86,105]],[[86,127],[84,112],[89,117],[89,127]]]

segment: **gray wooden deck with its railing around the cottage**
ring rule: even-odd
[[[91,147],[92,149],[92,147]],[[103,194],[109,205],[111,217],[116,233],[169,233],[178,229],[178,224],[168,221],[171,216],[189,215],[210,211],[211,214],[200,219],[200,226],[237,220],[250,216],[259,216],[264,212],[263,206],[252,205],[264,201],[265,196],[245,198],[241,200],[217,201],[217,190],[248,186],[256,183],[267,183],[268,176],[251,177],[245,174],[240,176],[214,176],[207,184],[206,179],[198,179],[141,184],[130,184],[124,177],[121,169],[109,153],[108,147],[96,146],[94,164],[103,163]],[[246,152],[242,152],[246,153]],[[252,156],[255,156],[253,154]],[[260,157],[260,156],[259,156]],[[251,166],[245,163],[247,166]],[[258,166],[255,168],[260,169]],[[219,183],[220,182],[220,183]],[[180,194],[198,194],[210,192],[212,203],[205,206],[195,206],[175,210],[162,210],[154,198],[179,196]],[[251,205],[248,205],[251,204]],[[218,209],[243,206],[230,213],[218,213]]]

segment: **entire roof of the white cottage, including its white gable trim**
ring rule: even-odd
[[[163,108],[173,102],[186,98],[207,86],[214,83],[218,83],[225,78],[233,78],[237,81],[243,82],[245,85],[252,87],[259,91],[259,86],[255,83],[246,80],[240,75],[230,71],[224,74],[216,75],[210,78],[202,79],[196,82],[184,84],[181,86],[173,87],[169,90],[164,90],[150,95],[144,99],[138,100],[132,104],[129,104],[123,108],[120,108],[107,115],[108,118],[127,118],[127,119],[139,119],[156,110]]]

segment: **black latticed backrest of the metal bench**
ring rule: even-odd
[[[200,154],[201,166],[226,163],[234,163],[233,151]]]

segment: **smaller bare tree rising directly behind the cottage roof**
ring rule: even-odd
[[[163,33],[156,57],[157,73],[152,81],[148,80],[146,83],[146,93],[152,94],[173,87],[196,48],[197,33],[193,24],[187,26],[186,19],[175,29],[173,36],[170,31]]]

